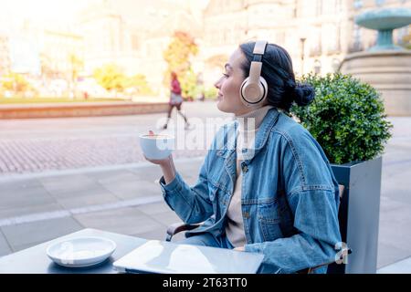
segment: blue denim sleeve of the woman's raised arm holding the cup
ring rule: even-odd
[[[160,179],[165,202],[185,224],[201,223],[213,214],[213,204],[208,195],[208,155],[205,156],[205,162],[194,186],[190,187],[185,183],[178,172],[171,183],[165,184],[164,178]]]

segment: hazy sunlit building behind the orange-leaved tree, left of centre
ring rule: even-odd
[[[174,31],[189,28],[194,36],[202,32],[201,18],[192,11],[182,1],[94,1],[83,9],[78,23],[85,74],[115,64],[126,75],[143,74],[151,88],[159,89],[166,69],[163,51]]]

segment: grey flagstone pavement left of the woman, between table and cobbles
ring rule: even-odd
[[[195,183],[202,161],[175,163],[186,182]],[[85,227],[163,240],[167,226],[181,220],[163,202],[160,176],[160,168],[146,162],[0,181],[0,256]]]

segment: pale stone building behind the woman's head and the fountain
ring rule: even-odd
[[[376,33],[356,26],[354,16],[376,6],[411,6],[406,0],[211,0],[204,12],[205,82],[221,74],[234,47],[268,39],[285,47],[301,73],[337,70],[349,53],[372,47]],[[395,32],[402,42],[409,28]]]

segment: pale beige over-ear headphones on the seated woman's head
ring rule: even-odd
[[[240,87],[241,101],[247,107],[259,106],[267,98],[269,87],[267,81],[261,77],[262,57],[267,45],[268,42],[265,40],[256,42],[248,78],[243,81]]]

